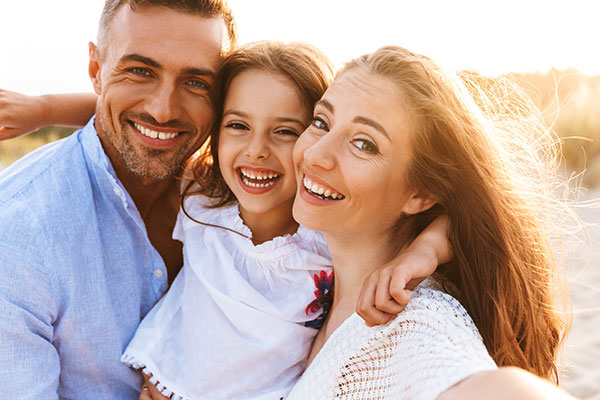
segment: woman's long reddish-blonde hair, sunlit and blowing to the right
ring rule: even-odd
[[[548,224],[560,204],[547,185],[557,141],[525,97],[492,102],[503,92],[485,96],[406,49],[381,48],[340,74],[354,68],[393,81],[411,116],[406,181],[450,220],[453,261],[437,277],[458,289],[453,294],[499,366],[558,380],[556,355],[567,324],[555,309],[560,280]]]

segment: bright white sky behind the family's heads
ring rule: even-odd
[[[340,66],[386,44],[487,75],[600,73],[598,0],[230,0],[242,43],[301,40]],[[0,2],[0,88],[90,91],[103,0]]]

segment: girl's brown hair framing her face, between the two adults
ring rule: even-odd
[[[217,78],[219,87],[215,104],[218,116],[223,113],[225,96],[233,79],[250,70],[266,71],[288,78],[298,88],[311,113],[315,103],[333,80],[330,61],[309,44],[271,41],[250,43],[238,47],[223,61]],[[197,183],[194,194],[200,193],[212,198],[213,207],[222,207],[236,201],[219,170],[219,126],[220,121],[217,121],[209,142],[192,162],[194,181]]]

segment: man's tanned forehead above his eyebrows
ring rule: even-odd
[[[204,57],[219,61],[227,41],[222,18],[206,18],[166,7],[124,5],[110,24],[107,51],[169,53],[171,57]],[[186,53],[186,54],[182,54]],[[196,56],[196,57],[195,57]]]

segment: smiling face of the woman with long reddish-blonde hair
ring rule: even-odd
[[[294,148],[294,217],[324,233],[389,235],[413,197],[404,182],[409,119],[387,78],[356,68],[316,104]]]

